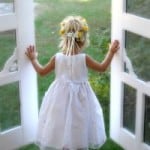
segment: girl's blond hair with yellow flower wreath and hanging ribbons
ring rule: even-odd
[[[59,47],[66,55],[78,53],[89,45],[88,24],[81,16],[68,16],[60,23]]]

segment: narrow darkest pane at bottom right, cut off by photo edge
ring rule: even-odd
[[[150,145],[150,97],[145,96],[144,142]]]

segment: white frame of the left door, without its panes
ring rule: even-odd
[[[0,14],[0,32],[16,30],[16,51],[0,72],[0,86],[19,82],[21,125],[0,132],[0,149],[12,150],[32,143],[35,139],[38,121],[37,76],[25,56],[30,44],[35,44],[33,0],[15,0],[15,12]],[[17,60],[18,70],[9,72],[13,59]]]

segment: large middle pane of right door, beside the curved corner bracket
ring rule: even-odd
[[[125,32],[125,47],[134,73],[142,80],[150,80],[150,39]],[[126,65],[127,66],[127,65]],[[131,65],[130,65],[131,66]],[[129,69],[129,68],[128,68]]]

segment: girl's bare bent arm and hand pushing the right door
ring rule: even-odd
[[[108,68],[108,66],[110,65],[112,58],[118,49],[119,49],[119,42],[116,40],[111,44],[111,46],[106,54],[106,57],[102,61],[102,63],[95,61],[93,58],[91,58],[90,56],[87,55],[86,56],[87,67],[89,67],[95,71],[99,71],[99,72],[105,71]]]

